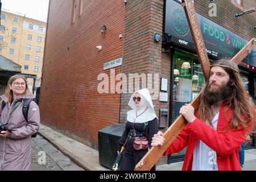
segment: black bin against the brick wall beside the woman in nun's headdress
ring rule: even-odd
[[[114,124],[98,131],[98,156],[102,166],[112,169],[117,158],[118,140],[121,138],[125,124]]]

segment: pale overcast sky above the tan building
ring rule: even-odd
[[[49,0],[1,0],[2,10],[26,14],[26,17],[47,21]]]

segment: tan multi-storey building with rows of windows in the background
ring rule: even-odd
[[[34,75],[27,80],[30,90],[35,86],[34,91],[41,84],[45,36],[46,22],[5,9],[1,11],[0,55],[21,65],[22,74]]]

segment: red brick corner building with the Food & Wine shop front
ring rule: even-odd
[[[195,1],[211,62],[233,57],[256,37],[255,12],[235,17],[255,3],[217,0],[217,15],[211,17],[210,1]],[[163,41],[154,40],[155,32]],[[97,149],[98,130],[126,121],[131,92],[139,86],[129,79],[143,82],[146,76],[156,114],[160,118],[160,109],[168,112],[167,120],[159,123],[167,129],[180,106],[204,85],[191,40],[179,1],[50,1],[40,90],[42,123]],[[240,68],[254,98],[255,66],[253,51]],[[120,77],[129,82],[121,93]],[[168,161],[181,160],[183,152]]]

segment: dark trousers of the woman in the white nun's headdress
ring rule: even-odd
[[[138,162],[143,158],[143,156],[148,152],[146,150],[135,150],[133,148],[133,139],[127,140],[127,145],[123,154],[123,162],[121,166],[121,171],[133,171]],[[151,168],[150,171],[155,171],[155,166]]]

